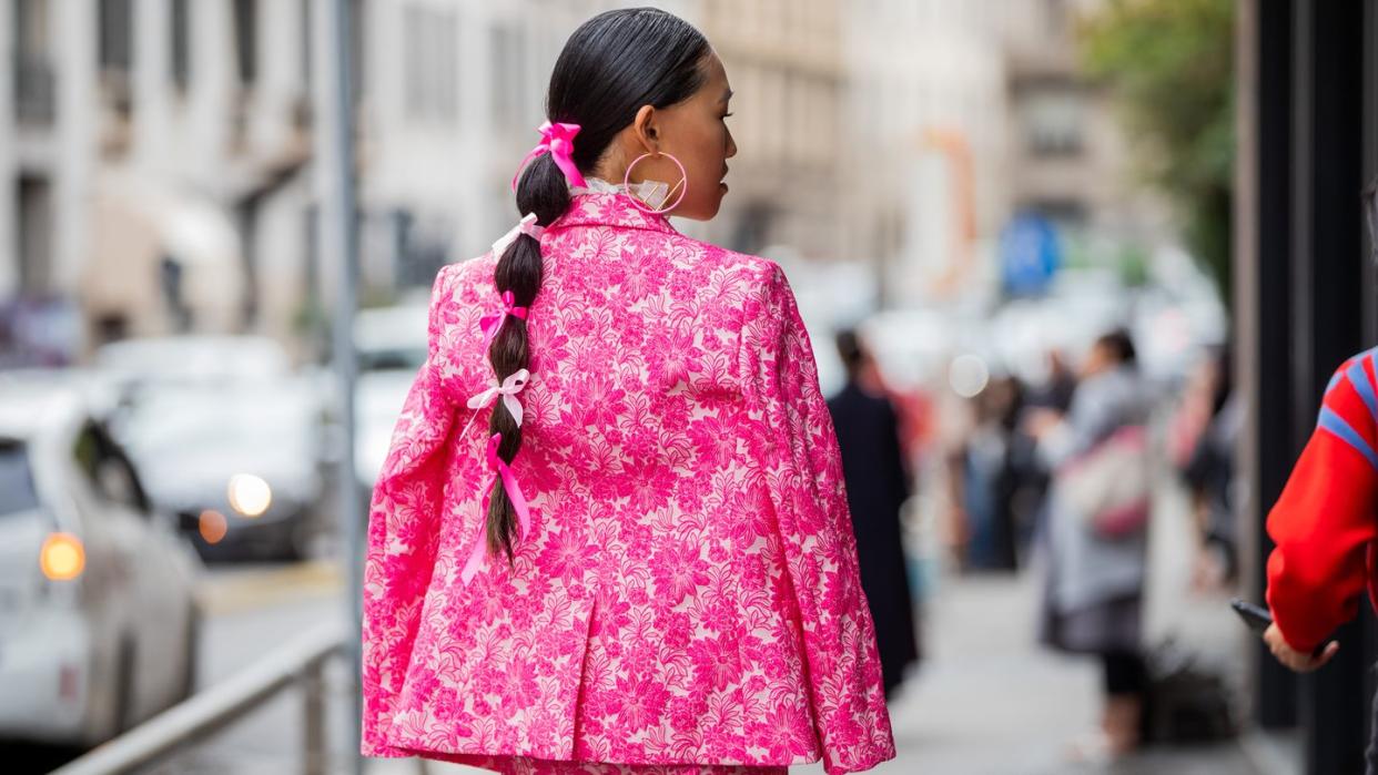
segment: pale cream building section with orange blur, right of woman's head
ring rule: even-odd
[[[981,273],[1006,202],[1002,8],[868,0],[843,18],[846,245],[883,306],[947,296]]]

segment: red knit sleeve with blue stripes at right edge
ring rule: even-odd
[[[1312,651],[1355,617],[1378,537],[1371,358],[1350,361],[1326,391],[1316,432],[1268,515],[1268,606],[1283,639]]]

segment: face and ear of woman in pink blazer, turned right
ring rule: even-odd
[[[695,220],[708,220],[718,215],[722,197],[728,193],[723,182],[728,160],[737,153],[726,118],[732,99],[728,72],[714,52],[708,54],[701,67],[707,78],[693,96],[656,112],[660,150],[674,154],[683,164],[689,186],[679,205],[667,215]],[[668,158],[646,158],[633,169],[633,180],[648,178],[664,180],[674,187],[679,180],[679,169]],[[679,191],[674,191],[666,204],[674,202],[678,195]]]

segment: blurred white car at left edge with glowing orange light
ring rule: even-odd
[[[0,738],[90,746],[194,688],[200,562],[91,406],[0,374]]]

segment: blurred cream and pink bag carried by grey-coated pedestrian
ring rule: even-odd
[[[1064,504],[1102,538],[1133,535],[1151,507],[1148,429],[1126,425],[1057,472]]]

